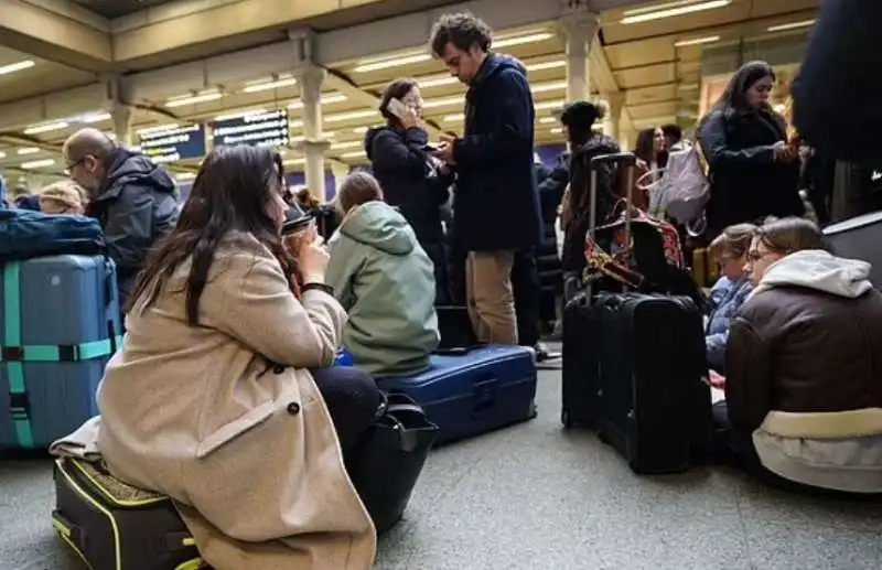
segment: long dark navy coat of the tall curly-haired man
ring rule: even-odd
[[[465,95],[465,136],[453,143],[453,225],[463,249],[497,251],[539,243],[534,119],[524,64],[487,55]]]

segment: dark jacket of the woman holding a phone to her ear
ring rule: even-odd
[[[453,174],[429,165],[429,138],[419,128],[378,127],[367,131],[365,152],[386,202],[400,209],[420,245],[441,244],[441,206],[450,198]]]

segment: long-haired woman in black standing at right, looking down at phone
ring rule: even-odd
[[[768,101],[774,86],[775,72],[767,63],[746,63],[699,123],[711,174],[711,239],[735,224],[805,214],[799,147],[787,141],[785,119]]]

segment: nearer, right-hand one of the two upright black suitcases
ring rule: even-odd
[[[635,473],[677,473],[711,447],[701,311],[688,297],[599,293],[598,428]]]

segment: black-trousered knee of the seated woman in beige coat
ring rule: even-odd
[[[377,383],[369,374],[348,366],[311,372],[331,412],[345,455],[358,443],[379,411],[383,400]]]

